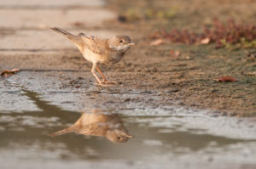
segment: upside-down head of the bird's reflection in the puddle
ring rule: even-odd
[[[128,132],[120,129],[108,130],[105,136],[114,144],[125,143],[129,140],[129,138],[133,138],[133,136],[131,136]]]

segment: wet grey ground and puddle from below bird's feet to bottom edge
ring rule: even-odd
[[[1,81],[3,168],[18,163],[20,168],[256,166],[253,118],[219,116],[212,110],[167,104],[156,106],[162,96],[154,90],[108,88],[99,92],[93,82],[84,82],[83,89],[61,88],[71,81],[58,82],[56,76],[48,74],[52,73],[23,71]],[[44,81],[46,77],[48,81]],[[144,100],[148,95],[150,99]],[[103,137],[74,133],[48,136],[77,121],[81,112],[95,108],[117,113],[134,138],[113,144]]]

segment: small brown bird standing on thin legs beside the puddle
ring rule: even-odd
[[[108,65],[119,62],[119,60],[125,56],[125,53],[129,48],[135,45],[129,36],[118,35],[115,37],[101,38],[86,36],[84,33],[73,35],[58,27],[51,27],[50,29],[71,40],[79,48],[84,59],[87,59],[92,63],[90,71],[93,76],[95,76],[99,86],[110,87],[111,84],[117,84],[117,82],[108,82],[97,65],[99,63]],[[96,76],[96,70],[98,70],[99,74],[102,76],[102,81]]]

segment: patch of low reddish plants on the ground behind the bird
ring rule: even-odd
[[[172,29],[172,31],[163,29],[158,33],[153,33],[150,37],[154,39],[164,38],[166,42],[184,44],[209,44],[215,42],[215,48],[230,48],[233,46],[237,46],[237,48],[255,48],[256,46],[254,42],[256,26],[253,24],[235,22],[234,20],[220,22],[218,19],[214,19],[211,25],[210,28],[205,25],[203,27],[204,31],[201,33],[188,29]],[[236,35],[233,35],[234,32],[236,32]],[[256,56],[253,56],[253,59],[256,60]]]

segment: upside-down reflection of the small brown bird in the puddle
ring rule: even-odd
[[[133,138],[125,128],[119,115],[115,113],[106,113],[102,110],[92,110],[92,113],[84,112],[78,121],[72,126],[59,132],[49,134],[51,137],[75,132],[77,134],[104,136],[112,143],[125,143],[129,138]]]

